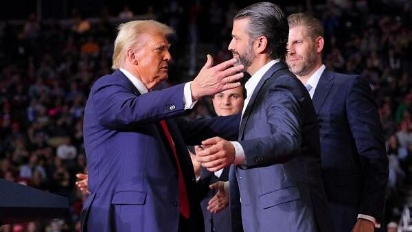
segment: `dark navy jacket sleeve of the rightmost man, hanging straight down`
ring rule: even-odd
[[[388,160],[378,109],[367,80],[353,79],[346,98],[347,121],[361,161],[360,214],[382,222],[388,180]]]

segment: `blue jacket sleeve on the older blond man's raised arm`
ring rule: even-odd
[[[113,130],[159,121],[185,114],[184,84],[136,95],[127,86],[96,82],[91,100],[99,123]]]

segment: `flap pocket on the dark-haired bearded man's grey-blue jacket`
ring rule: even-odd
[[[260,195],[259,206],[263,209],[267,209],[275,205],[299,199],[300,194],[297,187],[288,187],[286,189],[278,189],[273,192]]]

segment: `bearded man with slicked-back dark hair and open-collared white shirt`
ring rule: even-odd
[[[331,231],[317,116],[305,86],[284,63],[288,31],[286,15],[273,3],[236,14],[229,50],[251,74],[238,141],[214,137],[196,148],[211,172],[234,164],[233,231]],[[209,209],[220,211],[227,191],[223,183],[213,186],[218,192]]]

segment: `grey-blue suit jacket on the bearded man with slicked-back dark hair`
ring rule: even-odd
[[[247,165],[232,165],[229,174],[233,231],[332,231],[317,116],[308,91],[284,62],[253,91],[238,141]]]

